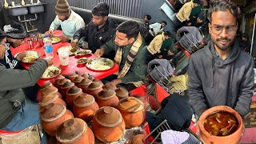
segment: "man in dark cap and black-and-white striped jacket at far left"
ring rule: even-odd
[[[0,59],[0,63],[6,68],[18,69],[20,68],[19,61],[26,56],[25,52],[17,54],[16,58],[11,54],[10,46],[16,48],[20,46],[26,38],[26,30],[22,24],[18,22],[10,22],[9,25],[3,27],[6,33],[6,52],[3,59]]]

